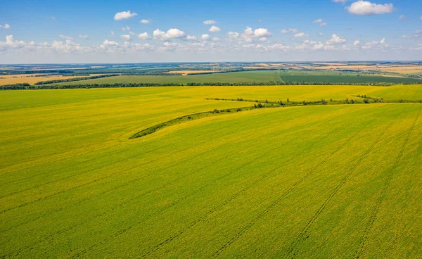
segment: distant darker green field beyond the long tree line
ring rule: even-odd
[[[117,77],[105,77],[94,80],[83,80],[79,82],[63,82],[61,85],[68,84],[114,84],[114,83],[156,83],[156,84],[187,84],[196,83],[215,83],[215,82],[317,82],[317,83],[370,83],[370,82],[389,82],[389,83],[415,83],[421,82],[415,78],[409,77],[388,77],[382,75],[357,75],[356,73],[333,72],[333,71],[281,71],[278,70],[257,70],[247,72],[226,72],[207,75],[121,75]]]

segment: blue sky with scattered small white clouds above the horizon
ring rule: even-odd
[[[32,0],[0,8],[0,63],[345,60],[422,60],[422,1]]]

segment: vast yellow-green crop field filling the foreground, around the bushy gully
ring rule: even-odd
[[[206,98],[358,94],[422,85],[0,91],[0,257],[418,258],[422,104],[262,108],[129,139],[252,105]]]

